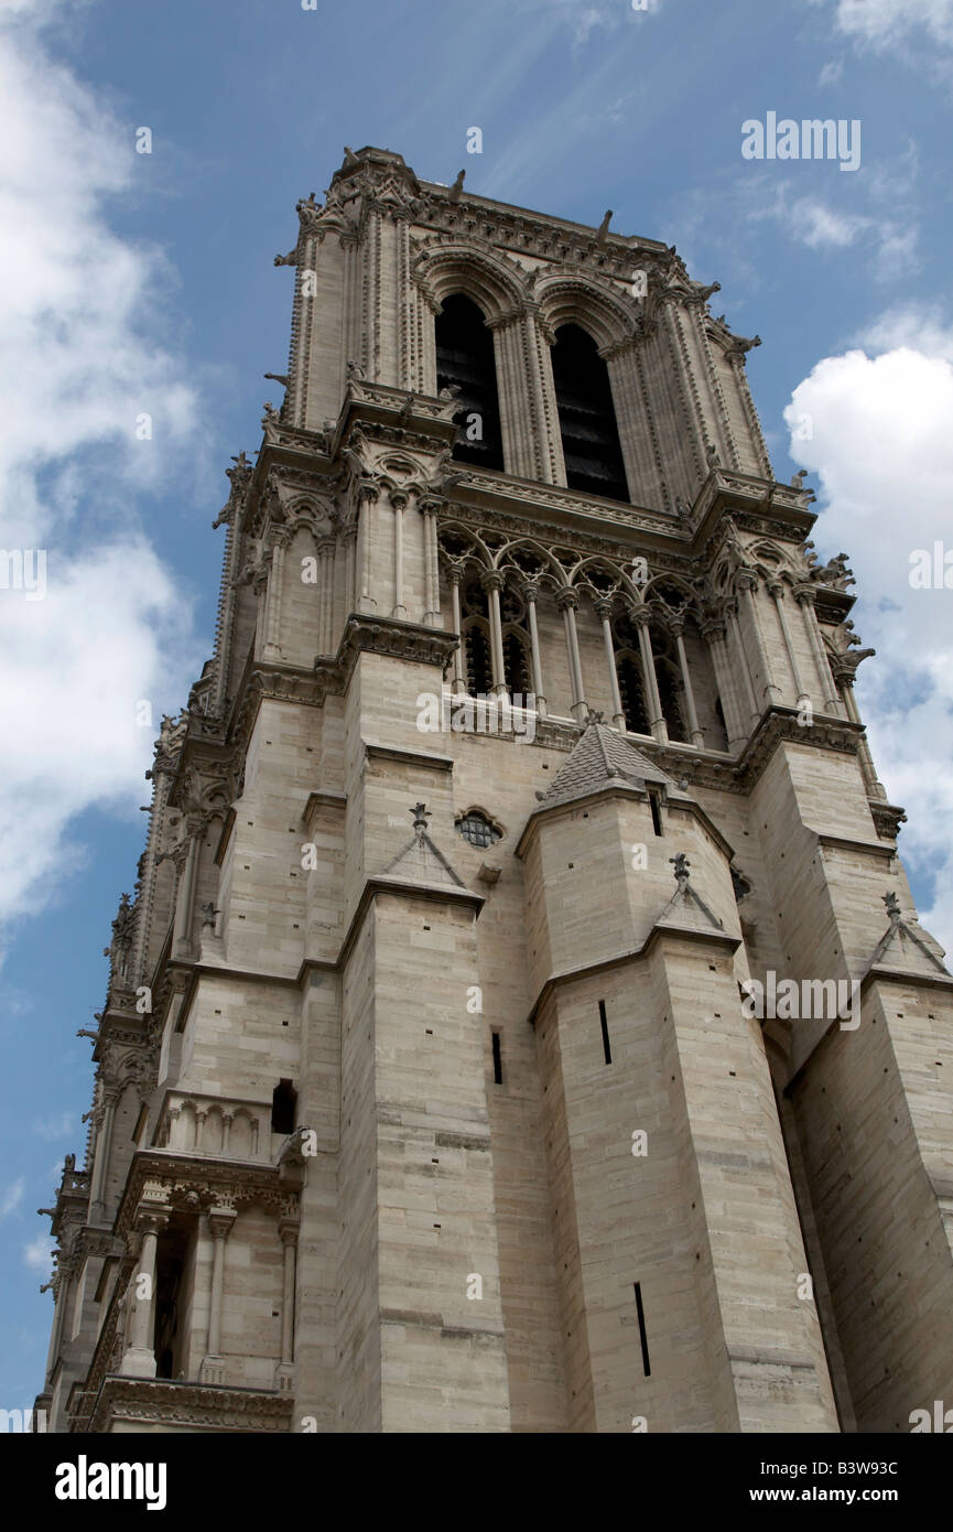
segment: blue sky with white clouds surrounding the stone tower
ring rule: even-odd
[[[273,257],[343,144],[582,222],[611,207],[722,282],[714,311],[763,339],[775,472],[811,470],[818,547],[852,555],[881,656],[860,703],[953,944],[953,591],[909,585],[912,550],[953,547],[951,92],[953,0],[0,5],[0,545],[47,550],[43,601],[0,591],[0,1406],[43,1383],[34,1209],[83,1154],[75,1031],[149,798],[136,703],[158,728],[210,653],[224,469],[287,362]],[[743,159],[768,112],[860,119],[860,170]]]

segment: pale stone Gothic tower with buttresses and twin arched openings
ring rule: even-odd
[[[391,152],[297,213],[51,1429],[907,1431],[953,1400],[953,979],[757,337]]]

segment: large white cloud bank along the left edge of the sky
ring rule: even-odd
[[[198,659],[135,513],[196,444],[185,365],[150,329],[172,274],[110,227],[135,124],[52,58],[55,9],[0,12],[0,919],[81,861],[75,815],[135,804],[136,703],[181,694]]]

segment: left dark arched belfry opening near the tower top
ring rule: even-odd
[[[443,300],[437,316],[437,388],[455,386],[458,438],[454,457],[481,469],[503,469],[493,334],[463,293]]]

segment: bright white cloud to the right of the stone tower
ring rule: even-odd
[[[858,702],[887,794],[909,812],[901,853],[936,875],[924,924],[953,950],[953,590],[910,585],[916,548],[953,548],[953,326],[907,308],[860,339],[818,362],[784,418],[812,418],[814,438],[791,453],[821,481],[818,547],[850,555],[856,628],[878,650]]]

